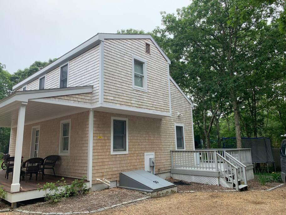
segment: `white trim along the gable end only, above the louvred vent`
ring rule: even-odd
[[[105,34],[105,33],[99,33],[99,39],[150,39],[155,46],[158,48],[160,53],[164,56],[164,58],[167,60],[168,64],[171,64],[170,59],[167,57],[167,55],[162,51],[160,46],[157,44],[157,42],[153,39],[153,37],[150,34]]]

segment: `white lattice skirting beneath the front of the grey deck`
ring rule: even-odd
[[[220,177],[213,177],[213,176],[202,176],[202,175],[185,175],[185,174],[177,174],[171,173],[171,177],[187,182],[196,182],[202,184],[211,184],[211,185],[220,185],[223,187],[229,187],[225,182],[224,179]]]

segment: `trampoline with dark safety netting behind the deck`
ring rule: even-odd
[[[236,138],[235,137],[222,137],[223,140],[223,149],[236,149]],[[241,138],[241,148],[242,149],[251,149],[251,158],[252,163],[254,164],[254,171],[256,172],[255,165],[256,163],[267,163],[267,172],[268,164],[274,163],[275,161],[272,154],[272,145],[269,138],[266,137],[257,137],[257,138]]]

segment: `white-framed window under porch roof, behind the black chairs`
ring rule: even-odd
[[[69,155],[71,141],[71,120],[61,121],[59,155]]]

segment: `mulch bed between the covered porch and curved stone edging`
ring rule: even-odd
[[[38,202],[21,206],[17,209],[35,212],[76,212],[93,211],[102,207],[110,207],[122,202],[146,197],[147,195],[135,190],[112,188],[90,192],[84,196],[64,198],[58,203]]]

